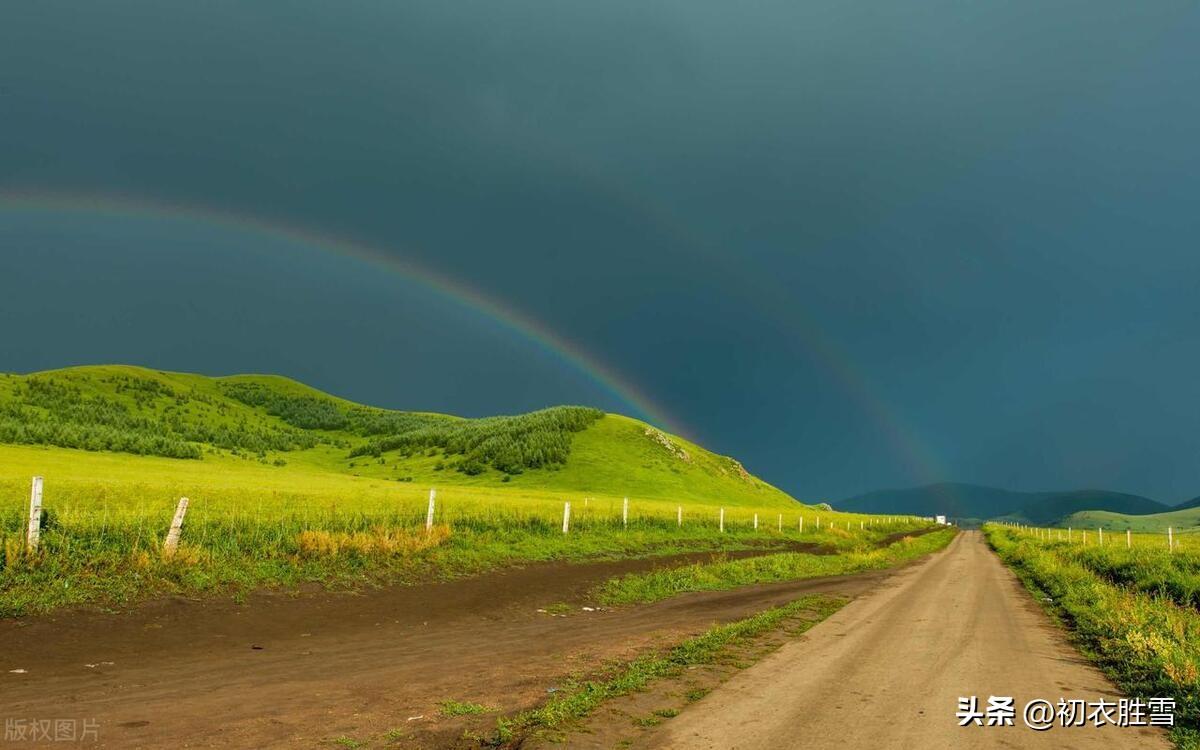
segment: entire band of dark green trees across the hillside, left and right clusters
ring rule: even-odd
[[[460,456],[452,468],[464,474],[481,474],[487,467],[520,474],[565,463],[571,433],[604,415],[587,407],[554,407],[518,416],[458,419],[293,395],[262,383],[218,383],[227,398],[278,419],[256,421],[229,401],[194,389],[176,390],[125,374],[100,382],[114,392],[84,392],[70,379],[54,376],[20,378],[10,397],[0,400],[0,443],[169,458],[200,458],[209,448],[260,461],[266,460],[266,451],[328,444],[349,449],[350,457],[440,451]],[[347,434],[366,442],[352,449]]]

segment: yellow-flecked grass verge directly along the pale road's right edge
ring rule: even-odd
[[[1085,655],[1126,695],[1175,698],[1171,739],[1182,749],[1200,748],[1196,610],[1098,575],[1066,544],[1040,541],[997,524],[985,526],[984,533],[1001,559],[1040,594]]]

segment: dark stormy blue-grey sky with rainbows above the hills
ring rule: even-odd
[[[1200,6],[0,8],[0,370],[1200,494]]]

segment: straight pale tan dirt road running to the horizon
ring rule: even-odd
[[[960,696],[1117,700],[977,532],[647,737],[650,748],[1169,748],[1158,730],[960,727]]]

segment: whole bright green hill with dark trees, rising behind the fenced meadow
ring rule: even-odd
[[[358,404],[278,376],[121,365],[4,374],[5,443],[188,462],[233,457],[422,485],[793,503],[733,458],[598,409],[463,419]]]

